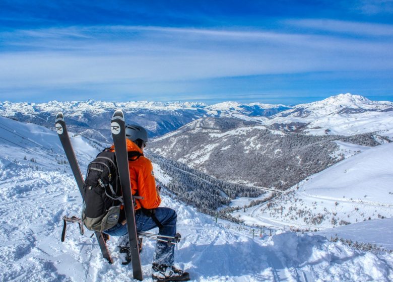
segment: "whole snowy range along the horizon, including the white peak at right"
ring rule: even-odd
[[[283,131],[308,134],[376,132],[393,136],[393,103],[370,101],[358,95],[340,94],[322,101],[294,107],[263,103],[222,102],[102,102],[95,100],[48,103],[0,102],[0,116],[51,126],[62,111],[70,128],[85,137],[109,142],[108,120],[117,108],[125,117],[145,126],[151,136],[160,136],[202,117],[233,117]]]

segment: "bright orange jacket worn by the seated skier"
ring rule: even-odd
[[[134,142],[126,139],[127,152],[139,152],[142,154],[141,148],[139,148]],[[114,152],[114,146],[110,148],[110,151]],[[161,203],[161,198],[156,190],[156,180],[154,179],[153,165],[150,160],[144,156],[141,156],[135,161],[128,161],[129,168],[129,180],[131,182],[131,190],[133,195],[143,197],[143,199],[137,199],[137,206],[135,209],[140,209],[141,205],[144,208],[156,208]]]

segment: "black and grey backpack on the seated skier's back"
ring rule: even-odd
[[[123,197],[114,152],[105,149],[88,165],[83,198],[87,229],[102,232],[117,224]]]

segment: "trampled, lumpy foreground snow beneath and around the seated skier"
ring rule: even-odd
[[[120,263],[117,238],[108,242],[112,265],[101,257],[90,231],[80,236],[77,226],[69,224],[66,240],[60,242],[61,217],[80,213],[81,199],[72,176],[56,171],[33,175],[29,169],[18,170],[22,183],[37,178],[46,178],[47,182],[1,201],[4,216],[0,254],[7,257],[0,261],[2,280],[130,280],[132,269]],[[3,183],[1,187],[7,189]],[[167,196],[163,196],[163,205],[177,210],[178,231],[184,239],[176,246],[176,261],[195,281],[296,280],[298,276],[336,281],[393,278],[389,274],[393,257],[387,254],[378,257],[321,236],[289,232],[252,240]],[[151,281],[153,251],[154,242],[145,239],[141,259],[146,281]]]

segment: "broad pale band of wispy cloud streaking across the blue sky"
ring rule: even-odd
[[[194,81],[309,72],[393,70],[389,25],[297,20],[288,27],[72,26],[0,32],[0,98],[13,93],[200,93]],[[383,40],[335,33],[372,30]],[[320,31],[332,31],[322,34]],[[374,33],[375,34],[375,33]],[[92,91],[94,90],[94,91]],[[272,92],[272,90],[270,91]],[[217,93],[217,92],[216,92]],[[239,91],[238,93],[244,94]],[[3,98],[3,99],[4,99]],[[170,99],[165,99],[170,100]]]

